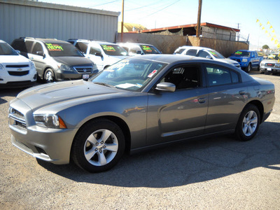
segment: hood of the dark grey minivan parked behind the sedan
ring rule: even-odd
[[[68,66],[92,66],[92,62],[86,57],[62,56],[52,58],[55,59],[56,62],[66,64]]]

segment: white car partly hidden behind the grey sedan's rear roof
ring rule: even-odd
[[[215,59],[220,62],[224,62],[227,64],[232,64],[237,68],[240,68],[238,62],[232,61],[231,59],[223,57],[221,53],[217,52],[216,50],[212,50],[211,48],[203,48],[203,47],[194,47],[194,46],[181,46],[177,48],[174,54],[179,55],[190,55],[196,57],[205,57],[208,59]]]

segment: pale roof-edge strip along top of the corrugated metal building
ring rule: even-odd
[[[41,1],[28,1],[28,0],[0,0],[0,3],[8,3],[8,4],[15,4],[21,6],[34,6],[39,8],[50,8],[50,9],[58,9],[58,10],[69,10],[74,12],[82,12],[82,13],[92,13],[98,15],[111,15],[118,17],[120,12],[113,12],[108,10],[97,10],[93,8],[84,8],[78,6],[68,6],[63,4],[57,3],[45,3]]]

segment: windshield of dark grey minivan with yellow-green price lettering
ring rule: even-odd
[[[45,43],[45,46],[48,49],[48,53],[52,57],[84,57],[82,52],[75,48],[71,43]]]

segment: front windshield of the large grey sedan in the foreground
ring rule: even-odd
[[[90,81],[124,90],[141,91],[166,65],[130,57],[104,69],[90,78]]]

